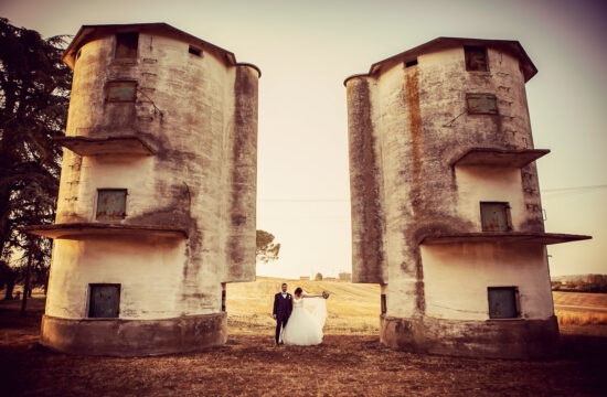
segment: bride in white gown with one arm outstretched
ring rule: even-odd
[[[283,329],[281,339],[285,344],[309,346],[322,342],[322,328],[324,326],[324,320],[327,320],[324,299],[308,299],[306,304],[303,304],[303,299],[327,297],[328,294],[306,293],[300,287],[295,289],[292,312],[287,325]]]

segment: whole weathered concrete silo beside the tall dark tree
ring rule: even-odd
[[[85,25],[42,344],[108,355],[226,340],[225,283],[255,280],[257,81],[164,23]]]

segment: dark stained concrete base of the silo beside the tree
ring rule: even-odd
[[[227,340],[225,312],[166,320],[42,318],[40,343],[62,353],[145,356],[195,352]]]

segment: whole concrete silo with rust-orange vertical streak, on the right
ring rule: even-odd
[[[381,340],[539,357],[557,342],[515,41],[439,37],[345,81],[353,281],[382,286]]]

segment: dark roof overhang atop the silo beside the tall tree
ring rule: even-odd
[[[255,68],[262,76],[262,71],[253,64],[239,64],[236,62],[236,56],[220,46],[205,42],[196,36],[185,33],[177,28],[171,26],[164,22],[155,22],[155,23],[128,23],[128,24],[98,24],[98,25],[82,25],[74,40],[70,43],[65,50],[62,61],[65,62],[70,68],[74,68],[76,63],[76,54],[78,50],[86,43],[92,40],[95,40],[100,36],[106,36],[109,34],[116,34],[121,32],[159,32],[161,34],[177,37],[183,42],[190,43],[196,47],[202,49],[203,51],[213,54],[219,60],[223,61],[226,66],[237,66],[246,65]]]

